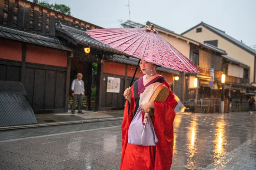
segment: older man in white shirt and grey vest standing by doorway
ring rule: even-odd
[[[73,106],[72,106],[72,114],[75,114],[76,111],[76,102],[78,102],[78,113],[82,113],[82,106],[83,106],[83,96],[85,96],[85,85],[82,81],[83,75],[78,73],[76,75],[77,79],[74,79],[71,85],[71,91],[73,98]]]

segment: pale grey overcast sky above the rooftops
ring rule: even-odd
[[[70,6],[73,17],[118,28],[129,19],[128,0],[50,0]],[[181,34],[201,21],[256,45],[256,0],[130,0],[131,20],[151,21]]]

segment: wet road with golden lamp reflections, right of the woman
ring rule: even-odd
[[[256,116],[248,113],[177,115],[174,129],[172,169],[205,169],[256,136]]]

